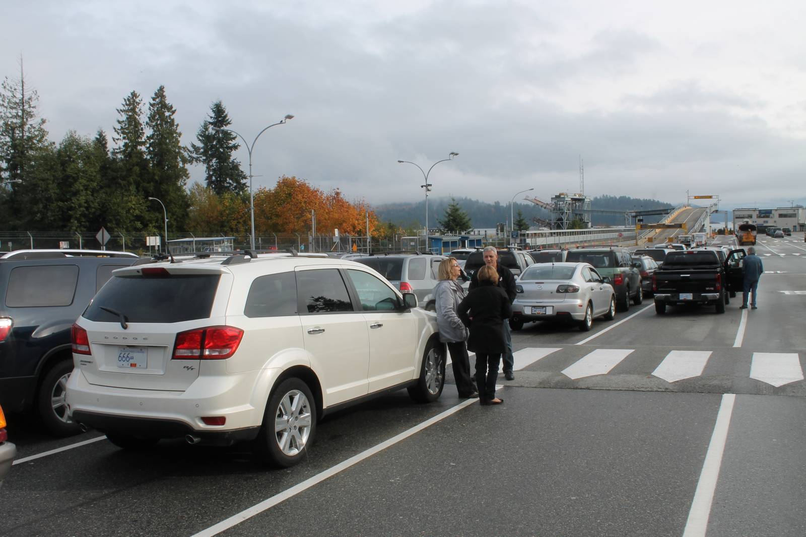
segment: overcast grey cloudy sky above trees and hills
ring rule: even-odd
[[[182,143],[220,99],[280,175],[371,204],[525,188],[806,203],[806,2],[3,2],[0,76],[53,141],[159,85]],[[247,151],[237,154],[247,170]],[[192,180],[203,180],[201,168]],[[517,199],[521,199],[518,196]]]

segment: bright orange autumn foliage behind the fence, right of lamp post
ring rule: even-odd
[[[255,233],[310,233],[311,209],[316,212],[316,230],[321,235],[339,229],[339,233],[363,236],[367,212],[370,233],[377,237],[382,227],[364,200],[351,203],[338,188],[322,192],[305,180],[281,176],[275,188],[255,192]]]

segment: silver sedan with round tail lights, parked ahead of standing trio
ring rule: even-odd
[[[591,329],[593,318],[616,315],[616,294],[609,279],[590,263],[536,263],[517,279],[517,296],[509,325],[520,330],[526,322],[565,319]]]

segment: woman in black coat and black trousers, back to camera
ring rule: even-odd
[[[496,380],[501,353],[506,349],[504,320],[512,316],[512,307],[505,291],[498,287],[495,267],[482,266],[478,281],[479,287],[467,294],[456,308],[456,313],[470,328],[467,350],[476,353],[479,402],[483,405],[499,405],[504,403],[504,399],[496,398]]]

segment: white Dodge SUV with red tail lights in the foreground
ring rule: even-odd
[[[372,394],[442,394],[435,316],[357,262],[145,260],[113,272],[73,325],[73,419],[121,448],[231,444],[290,466],[317,419]]]

